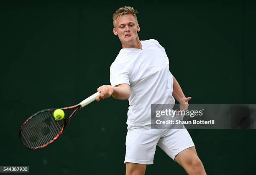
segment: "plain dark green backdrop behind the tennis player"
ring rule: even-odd
[[[34,112],[77,104],[109,84],[121,45],[112,14],[138,9],[141,40],[154,38],[194,104],[256,103],[256,3],[239,1],[0,2],[0,165],[30,166],[33,175],[122,175],[128,101],[93,102],[64,134],[31,151],[18,138]],[[209,175],[256,173],[255,130],[189,130]],[[183,175],[159,147],[147,175]]]

